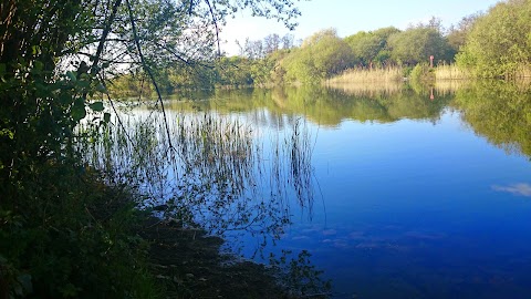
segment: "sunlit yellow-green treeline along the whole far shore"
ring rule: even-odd
[[[201,63],[167,65],[157,72],[164,92],[273,84],[308,84],[345,71],[397,68],[404,75],[417,64],[456,64],[472,78],[529,75],[531,62],[531,0],[499,2],[486,13],[467,16],[444,28],[441,20],[406,30],[394,27],[360,31],[346,38],[325,29],[296,44],[293,37],[270,34],[246,40],[237,56]],[[122,76],[114,91],[142,89],[142,74]],[[144,84],[149,92],[149,84]]]

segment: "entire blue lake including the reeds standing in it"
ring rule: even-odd
[[[163,141],[187,144],[178,156],[201,150],[188,168],[160,176],[158,198],[226,236],[243,258],[308,250],[332,280],[333,298],[531,297],[529,86],[283,87],[171,99],[167,118],[179,121]],[[133,110],[127,123],[149,115]],[[200,145],[186,132],[202,136]],[[215,181],[198,182],[212,178],[208,167],[217,167]]]

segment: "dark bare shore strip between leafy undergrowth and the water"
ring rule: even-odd
[[[296,298],[277,283],[272,268],[220,254],[223,240],[178,221],[149,218],[139,231],[168,298]]]

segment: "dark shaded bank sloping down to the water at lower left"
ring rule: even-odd
[[[54,188],[24,209],[0,209],[0,298],[308,295],[285,283],[288,265],[237,259],[220,249],[222,238],[138,208],[145,195],[136,186],[87,164],[41,165],[34,179],[23,192]]]

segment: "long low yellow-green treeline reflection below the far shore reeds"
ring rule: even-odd
[[[219,91],[209,101],[174,103],[173,109],[186,110],[190,105],[214,109],[219,113],[239,112],[252,114],[257,124],[283,127],[284,120],[304,115],[325,126],[337,126],[344,120],[361,122],[395,122],[402,118],[436,122],[452,93],[445,89],[414,89],[409,85],[379,90],[360,89],[353,85],[332,87],[300,86],[254,91]],[[270,113],[264,117],[264,110]],[[277,118],[275,118],[277,117]],[[292,123],[289,123],[292,125]]]

